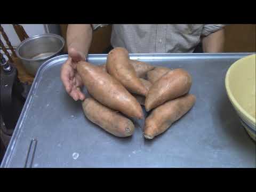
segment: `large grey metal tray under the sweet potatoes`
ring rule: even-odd
[[[239,122],[224,83],[230,65],[249,54],[131,54],[193,76],[195,106],[153,140],[143,138],[143,120],[134,121],[129,138],[92,124],[61,83],[68,56],[50,59],[38,70],[1,167],[256,167],[255,142]],[[106,56],[88,59],[101,65]]]

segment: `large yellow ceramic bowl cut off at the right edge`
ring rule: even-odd
[[[255,78],[256,54],[237,60],[228,69],[225,79],[228,98],[249,135],[256,140]]]

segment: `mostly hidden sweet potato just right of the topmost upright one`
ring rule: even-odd
[[[146,62],[143,61],[137,61],[130,59],[130,63],[132,64],[133,68],[136,71],[138,78],[144,78],[147,75],[147,72],[154,69],[154,66],[149,65]]]

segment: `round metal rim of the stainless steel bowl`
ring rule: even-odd
[[[20,47],[23,46],[24,44],[36,39],[36,38],[40,38],[40,37],[55,37],[55,38],[58,38],[60,39],[62,45],[60,47],[60,49],[57,51],[57,52],[54,52],[53,54],[51,55],[48,55],[46,57],[43,57],[43,58],[39,58],[39,59],[27,59],[27,58],[23,58],[21,57],[20,53],[19,53],[19,50],[20,50]],[[52,34],[52,33],[46,33],[46,34],[40,34],[40,35],[34,35],[32,37],[29,37],[27,39],[25,39],[24,41],[22,41],[19,46],[16,48],[15,50],[15,53],[17,54],[17,57],[22,59],[22,60],[25,60],[25,61],[42,61],[42,60],[46,60],[46,59],[49,59],[51,57],[53,57],[55,54],[58,54],[61,52],[61,50],[63,49],[63,47],[65,46],[65,39],[63,37],[61,37],[60,35],[57,35],[57,34]]]

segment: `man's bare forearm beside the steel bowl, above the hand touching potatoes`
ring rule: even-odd
[[[92,28],[90,24],[69,24],[67,29],[68,50],[74,48],[76,51],[87,55],[92,42]]]

